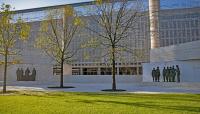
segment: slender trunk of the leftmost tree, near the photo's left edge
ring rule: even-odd
[[[7,64],[8,64],[8,51],[7,51],[7,49],[6,49],[5,58],[4,58],[3,93],[6,93]]]

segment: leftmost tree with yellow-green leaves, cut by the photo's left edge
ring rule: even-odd
[[[5,93],[8,64],[15,63],[15,60],[10,61],[10,59],[19,54],[16,42],[28,39],[30,26],[21,18],[14,17],[10,5],[2,4],[0,7],[0,56],[4,65],[3,92]]]

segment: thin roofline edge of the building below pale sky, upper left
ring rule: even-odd
[[[71,4],[62,4],[62,5],[54,5],[54,6],[45,6],[45,7],[39,7],[39,8],[30,8],[30,9],[23,9],[23,10],[15,10],[15,13],[27,13],[27,12],[35,12],[35,11],[43,11],[46,9],[56,9],[56,8],[62,8],[66,5],[71,5],[73,7],[78,6],[84,6],[84,5],[92,5],[94,1],[88,1],[88,2],[79,2],[79,3],[71,3]]]

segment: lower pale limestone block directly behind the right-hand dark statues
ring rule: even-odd
[[[152,82],[151,71],[160,67],[161,81],[163,81],[163,67],[179,65],[181,82],[200,82],[200,60],[152,62],[143,64],[143,82]]]

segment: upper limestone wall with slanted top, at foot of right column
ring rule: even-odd
[[[200,41],[152,49],[150,62],[200,60]]]

